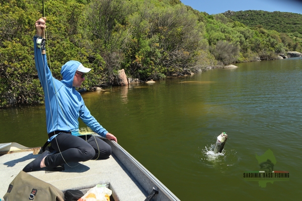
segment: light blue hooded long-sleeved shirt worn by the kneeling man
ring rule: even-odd
[[[79,117],[94,132],[106,137],[108,131],[90,114],[81,94],[75,90],[73,77],[79,61],[68,61],[61,68],[63,79],[55,79],[47,65],[46,54],[37,47],[34,37],[35,63],[44,90],[47,133],[54,131],[71,132],[79,135]]]

